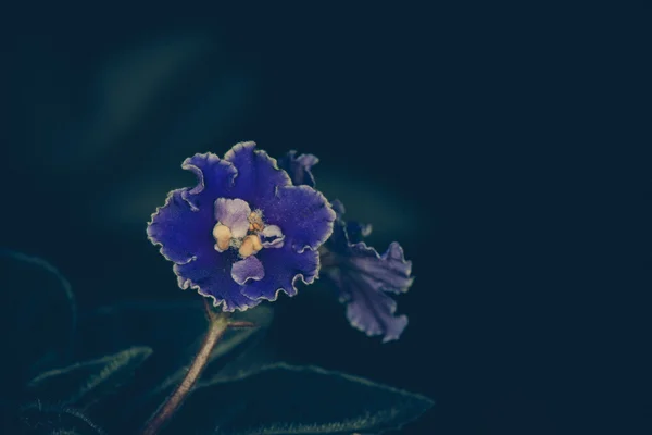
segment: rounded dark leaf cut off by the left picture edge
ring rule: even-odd
[[[0,249],[0,397],[36,374],[67,364],[76,327],[68,282],[50,263]]]

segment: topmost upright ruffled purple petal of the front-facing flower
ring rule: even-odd
[[[265,206],[276,201],[276,189],[290,186],[288,174],[280,170],[276,160],[265,151],[256,150],[254,142],[235,145],[225,156],[237,170],[231,198],[249,202],[251,208],[265,210]]]

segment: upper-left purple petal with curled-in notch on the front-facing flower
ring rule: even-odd
[[[217,198],[234,198],[230,190],[237,171],[230,162],[206,152],[186,159],[181,167],[197,175],[197,186],[184,194],[184,199],[195,209],[210,208],[212,211]]]

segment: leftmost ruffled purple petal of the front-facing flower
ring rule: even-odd
[[[161,253],[175,263],[187,263],[200,247],[213,244],[213,213],[193,211],[183,199],[185,194],[186,189],[171,191],[147,227],[150,241],[161,245]]]

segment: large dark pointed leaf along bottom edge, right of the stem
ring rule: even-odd
[[[165,433],[351,434],[400,428],[434,402],[421,395],[314,366],[274,364],[239,380],[200,384]]]

